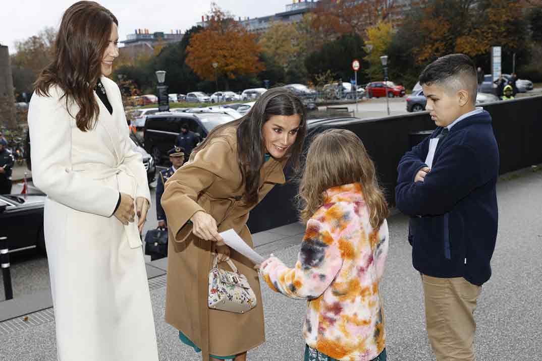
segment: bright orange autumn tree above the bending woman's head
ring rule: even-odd
[[[186,64],[199,77],[214,81],[222,76],[226,89],[229,88],[228,80],[257,74],[264,68],[258,58],[261,48],[256,43],[256,36],[249,34],[232,15],[225,14],[214,3],[207,26],[190,38],[186,51]],[[215,62],[218,64],[216,69],[212,66]]]

